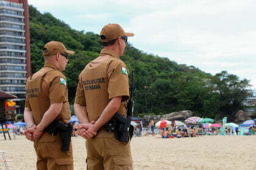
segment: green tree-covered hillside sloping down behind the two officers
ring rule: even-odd
[[[32,72],[37,72],[43,66],[41,50],[46,42],[61,41],[76,54],[71,56],[65,75],[68,78],[69,102],[73,104],[76,94],[77,77],[85,65],[96,58],[102,48],[99,35],[93,32],[83,32],[71,29],[68,24],[54,18],[50,13],[40,13],[30,6],[30,43]],[[135,71],[135,114],[166,114],[179,110],[192,110],[202,117],[220,118],[223,115],[233,115],[237,109],[243,108],[241,100],[246,96],[245,87],[237,85],[236,91],[242,92],[239,98],[232,90],[221,89],[230,86],[230,82],[241,81],[235,75],[227,72],[212,76],[196,67],[177,64],[168,58],[161,58],[136,49],[130,44],[122,60],[130,72]],[[226,80],[222,80],[226,77]],[[233,79],[230,79],[233,78]],[[219,83],[219,84],[218,84]],[[221,92],[223,90],[223,93]],[[229,93],[227,93],[229,92]],[[229,97],[228,103],[222,103],[224,95]],[[238,106],[233,109],[230,102],[236,101]],[[232,109],[230,110],[230,107]]]

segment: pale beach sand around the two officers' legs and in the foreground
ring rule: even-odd
[[[255,170],[256,135],[254,136],[204,136],[196,138],[162,139],[134,137],[131,148],[133,169],[188,169],[188,170]],[[73,137],[74,169],[84,170],[85,140]],[[7,151],[10,170],[35,170],[33,143],[24,136],[6,140],[0,134],[0,150]],[[0,163],[0,169],[4,163]]]

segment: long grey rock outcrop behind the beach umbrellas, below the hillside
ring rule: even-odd
[[[165,120],[180,120],[184,121],[189,117],[193,117],[193,112],[190,110],[183,110],[180,112],[172,112],[171,114],[166,114],[166,115],[144,115],[142,118],[143,122],[148,122],[149,120],[154,120],[154,121],[159,121],[161,118]]]

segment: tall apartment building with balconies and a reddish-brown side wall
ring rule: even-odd
[[[0,90],[20,99],[31,72],[28,8],[27,0],[0,0]]]

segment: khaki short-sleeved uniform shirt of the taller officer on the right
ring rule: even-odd
[[[118,112],[126,117],[129,98],[126,64],[112,50],[102,49],[100,56],[80,73],[75,103],[86,106],[89,121],[96,121],[114,97],[123,97]]]

